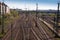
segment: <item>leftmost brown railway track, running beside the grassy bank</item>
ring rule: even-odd
[[[18,23],[18,24],[17,24]],[[19,30],[19,22],[18,20],[13,24],[12,29],[11,27],[9,27],[10,29],[7,31],[6,35],[2,38],[2,40],[16,40]],[[12,34],[11,34],[11,30],[12,30]],[[11,36],[12,35],[12,36]],[[13,38],[13,39],[12,39]]]

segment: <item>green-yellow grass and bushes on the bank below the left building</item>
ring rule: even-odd
[[[17,11],[12,11],[10,14],[4,14],[4,34],[2,34],[1,32],[0,32],[0,38],[1,37],[3,37],[5,34],[6,34],[6,29],[7,29],[7,27],[9,27],[9,26],[7,26],[7,25],[9,25],[9,24],[11,24],[11,22],[13,22],[15,19],[17,19],[19,16],[18,16],[18,12]],[[2,24],[1,24],[1,15],[0,15],[0,26],[1,26]]]

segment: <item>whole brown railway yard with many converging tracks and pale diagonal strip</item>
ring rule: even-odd
[[[55,38],[55,34],[53,17],[23,13],[7,27],[6,34],[0,40],[60,40]]]

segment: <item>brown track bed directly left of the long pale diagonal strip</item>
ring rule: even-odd
[[[44,30],[45,36],[47,40],[55,40],[53,36],[53,32],[43,23],[39,20],[41,27],[41,30]],[[43,25],[42,25],[43,24]]]

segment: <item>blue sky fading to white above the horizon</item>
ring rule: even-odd
[[[2,2],[2,0],[0,0]],[[25,10],[36,10],[36,3],[38,3],[39,10],[57,10],[57,3],[59,0],[4,0],[10,8],[18,8]]]

